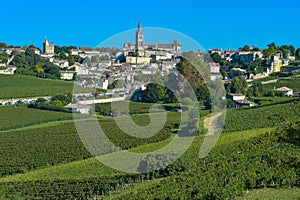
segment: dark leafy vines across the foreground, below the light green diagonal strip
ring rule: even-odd
[[[266,130],[262,130],[266,131]],[[250,133],[250,132],[249,132]],[[86,176],[80,179],[40,179],[8,182],[0,185],[6,193],[21,192],[23,195],[40,198],[93,198],[118,195],[121,199],[159,199],[175,198],[180,191],[181,197],[193,199],[225,199],[239,196],[247,189],[267,187],[299,186],[294,166],[299,164],[299,151],[294,145],[281,142],[278,149],[278,138],[273,133],[243,136],[242,139],[228,141],[230,134],[224,134],[220,145],[204,159],[196,159],[199,142],[198,136],[191,148],[183,157],[189,157],[182,172],[165,177],[157,172],[155,176],[147,174],[114,176]],[[248,139],[247,139],[248,137]],[[269,151],[265,151],[265,148]],[[278,158],[281,158],[278,160]],[[291,162],[293,160],[293,162]],[[173,164],[173,165],[176,165]],[[92,169],[90,169],[92,170]],[[78,173],[82,171],[78,169]],[[38,175],[38,174],[37,174]],[[17,178],[17,177],[16,177]],[[16,179],[18,180],[18,179]],[[146,183],[143,188],[139,183]],[[149,183],[149,184],[148,184]],[[130,189],[133,187],[135,189]],[[146,188],[145,188],[146,186]],[[127,188],[129,190],[127,190]],[[211,191],[214,188],[214,191]],[[229,192],[230,191],[230,192]],[[138,195],[137,195],[138,194]]]

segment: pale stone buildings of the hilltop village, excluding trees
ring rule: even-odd
[[[24,48],[0,48],[0,53],[7,53],[11,55],[13,51],[25,52]],[[99,49],[92,49],[82,47],[79,49],[71,49],[71,54],[84,58],[83,63],[75,63],[69,65],[68,60],[58,60],[54,57],[54,43],[49,42],[46,38],[43,43],[43,53],[39,49],[35,49],[35,53],[50,62],[60,67],[61,79],[74,80],[76,75],[76,83],[82,87],[101,88],[107,90],[109,85],[115,81],[120,81],[121,85],[117,88],[116,93],[125,95],[136,91],[137,89],[145,89],[145,81],[136,79],[139,75],[153,75],[160,73],[161,75],[168,75],[169,73],[176,73],[175,67],[180,62],[182,55],[182,46],[177,40],[173,40],[169,44],[144,43],[144,33],[141,23],[138,23],[136,30],[135,43],[125,42],[122,51],[110,55],[107,52],[101,52]],[[207,54],[217,53],[222,59],[227,61],[238,61],[239,63],[251,63],[257,59],[262,59],[261,51],[223,51],[218,49],[211,49],[208,52],[199,52],[199,56],[203,57]],[[106,57],[108,59],[93,61],[93,57]],[[13,74],[17,69],[15,66],[0,61],[0,74]],[[257,75],[249,75],[249,79],[261,78],[268,76],[271,72],[280,71],[283,66],[288,65],[290,60],[294,57],[288,56],[283,58],[282,54],[278,53],[270,57],[270,70],[265,73]],[[88,60],[85,62],[85,60]],[[204,59],[205,60],[205,59]],[[2,67],[2,68],[1,68]],[[228,78],[233,78],[237,74],[245,75],[247,71],[241,68],[232,68],[228,70],[228,66],[221,66],[216,62],[208,62],[210,69],[210,79],[221,80],[221,69],[228,71]],[[293,68],[295,70],[295,68]],[[300,70],[297,69],[297,70]],[[227,77],[226,77],[227,78]],[[293,91],[289,88],[282,87],[277,90],[285,93],[286,96],[293,95]],[[255,104],[245,99],[242,94],[228,94],[227,98],[236,103],[236,107],[254,106]],[[84,106],[69,105],[70,109],[80,109]],[[83,111],[86,112],[86,111]]]

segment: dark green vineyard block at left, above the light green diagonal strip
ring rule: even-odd
[[[172,133],[170,129],[174,128],[174,123],[179,120],[179,116],[177,113],[169,113],[165,127],[149,138],[136,139],[125,134],[112,118],[100,120],[100,125],[117,146],[129,149],[168,139]],[[149,118],[147,115],[136,116],[136,121],[139,124],[147,124]],[[81,123],[89,127],[91,122]],[[89,157],[91,155],[83,146],[73,123],[0,134],[0,176],[24,173],[44,166],[69,163]]]

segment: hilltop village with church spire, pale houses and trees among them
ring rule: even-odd
[[[102,91],[94,97],[107,98],[114,94],[125,98],[138,90],[145,90],[149,82],[147,76],[176,74],[176,66],[184,57],[183,47],[176,38],[170,38],[168,44],[147,43],[144,38],[147,36],[139,21],[135,41],[124,42],[123,49],[59,47],[46,37],[43,51],[34,45],[15,47],[1,43],[0,74],[76,80],[81,87]],[[299,91],[293,91],[286,85],[273,88],[273,91],[262,91],[262,84],[275,83],[278,79],[253,84],[255,80],[270,76],[297,73],[300,70],[300,49],[292,45],[276,46],[271,43],[266,49],[245,45],[237,50],[209,49],[194,54],[207,64],[211,81],[224,83],[231,107],[256,105],[249,99],[251,96],[298,95]],[[85,95],[78,96],[86,98]]]

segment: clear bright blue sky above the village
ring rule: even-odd
[[[12,45],[42,47],[46,35],[55,45],[95,47],[136,28],[140,19],[143,27],[179,31],[205,49],[265,48],[271,42],[300,47],[298,0],[16,0],[0,5],[0,42]]]

